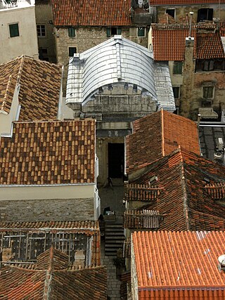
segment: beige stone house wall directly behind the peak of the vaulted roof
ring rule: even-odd
[[[65,66],[63,72],[63,94],[65,95],[66,81],[68,77],[69,47],[76,47],[77,53],[82,53],[103,41],[110,39],[107,37],[106,27],[77,27],[76,37],[68,37],[68,28],[55,28],[56,39],[56,58],[57,63],[63,63]],[[122,36],[130,39],[142,46],[148,46],[148,30],[146,37],[137,37],[137,27],[123,27]]]

